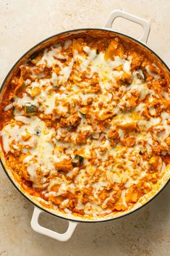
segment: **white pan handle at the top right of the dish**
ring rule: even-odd
[[[148,41],[148,36],[150,33],[150,21],[144,20],[140,17],[137,17],[135,15],[131,15],[128,12],[123,12],[120,10],[115,10],[111,12],[109,19],[107,20],[106,24],[104,25],[104,28],[111,28],[112,23],[117,17],[122,17],[124,19],[130,20],[132,22],[135,22],[137,24],[140,24],[143,27],[143,35],[140,36],[139,40],[143,41],[143,43],[147,43]]]

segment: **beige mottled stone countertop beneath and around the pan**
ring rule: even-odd
[[[148,46],[170,65],[169,0],[0,0],[0,83],[14,62],[38,41],[72,28],[102,27],[109,13],[122,9],[151,20]],[[115,28],[132,36],[140,28],[117,20]],[[168,256],[170,186],[132,215],[107,223],[80,224],[72,238],[59,242],[30,227],[33,205],[0,170],[0,255]],[[44,214],[41,223],[64,231],[67,221]]]

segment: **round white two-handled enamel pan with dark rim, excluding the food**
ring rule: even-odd
[[[144,33],[143,33],[143,36],[141,38],[141,41],[143,41],[143,42],[147,41],[148,33],[149,33],[149,30],[150,30],[150,25],[149,25],[148,22],[146,22],[143,19],[134,17],[132,15],[128,15],[127,13],[124,13],[124,12],[114,11],[114,12],[111,13],[111,17],[109,17],[109,20],[106,23],[106,28],[111,27],[111,24],[112,24],[112,22],[114,21],[114,19],[116,17],[125,17],[129,20],[132,20],[133,22],[137,22],[140,25],[142,25],[143,28],[144,28]],[[2,86],[2,91],[1,91],[1,96],[4,95],[4,90],[7,86],[7,84],[9,83],[9,80],[11,80],[14,73],[18,69],[18,67],[20,67],[20,65],[22,65],[27,58],[33,56],[35,51],[40,51],[40,50],[44,49],[44,47],[47,47],[47,46],[50,46],[50,45],[56,43],[56,41],[57,42],[61,41],[63,38],[66,39],[66,38],[71,38],[71,36],[74,37],[74,36],[82,36],[82,35],[87,35],[87,34],[89,35],[90,33],[93,33],[93,34],[96,34],[96,35],[100,34],[101,36],[109,35],[110,37],[111,37],[111,35],[112,36],[119,36],[120,38],[124,38],[124,40],[125,40],[125,38],[127,38],[128,41],[135,42],[135,44],[140,46],[140,48],[143,49],[143,51],[148,52],[148,56],[153,56],[155,59],[157,59],[157,62],[161,63],[161,64],[158,64],[158,65],[161,65],[161,69],[163,70],[163,72],[166,73],[167,77],[169,76],[168,67],[166,67],[166,65],[163,63],[163,61],[160,58],[158,58],[156,56],[156,54],[153,53],[153,51],[148,49],[148,47],[146,47],[145,44],[141,43],[140,41],[136,41],[133,38],[130,38],[130,37],[128,37],[126,35],[123,35],[121,33],[116,33],[116,32],[114,32],[112,30],[109,30],[109,29],[93,29],[93,28],[79,29],[79,30],[67,31],[67,32],[64,32],[64,33],[60,33],[59,35],[52,36],[51,38],[48,38],[45,41],[38,44],[37,46],[33,47],[33,49],[30,49],[30,51],[27,51],[27,53],[17,62],[17,64],[14,65],[12,70],[7,75],[7,78],[4,80],[4,83],[3,83],[3,86]],[[89,51],[89,49],[86,49],[86,50]],[[157,62],[156,62],[156,64],[157,64]],[[34,105],[29,105],[29,106],[26,105],[26,114],[28,114],[28,112],[30,111],[31,106],[35,107]],[[83,112],[82,112],[82,114],[84,115]],[[17,121],[20,121],[19,118],[17,118]],[[26,139],[25,139],[25,141],[26,141]],[[3,146],[4,146],[4,144],[3,144]],[[4,148],[5,148],[5,146],[4,146]],[[46,161],[48,162],[48,159]],[[79,159],[79,161],[80,161],[80,159]],[[11,179],[12,183],[17,187],[17,189],[22,191],[22,194],[24,194],[25,197],[27,197],[27,199],[30,199],[30,201],[33,202],[36,206],[35,210],[34,210],[34,213],[33,213],[33,218],[32,218],[32,221],[31,221],[31,226],[33,227],[33,229],[35,231],[40,232],[41,234],[46,234],[48,236],[54,237],[55,239],[59,239],[60,241],[66,241],[67,239],[69,239],[69,237],[72,235],[73,231],[75,230],[77,222],[80,222],[80,221],[82,221],[82,222],[96,222],[96,221],[113,220],[113,219],[116,219],[116,218],[120,218],[123,215],[127,215],[127,214],[129,214],[129,212],[132,212],[136,209],[139,209],[140,207],[145,205],[146,202],[149,202],[150,199],[155,197],[156,194],[158,194],[158,192],[161,191],[161,189],[163,189],[163,186],[165,186],[166,183],[169,181],[169,166],[167,166],[166,171],[163,173],[163,176],[158,181],[157,188],[155,190],[150,191],[150,193],[145,194],[145,197],[142,197],[142,199],[137,201],[137,203],[135,205],[132,205],[132,207],[128,208],[127,210],[124,210],[123,212],[116,212],[116,213],[114,213],[114,215],[101,216],[100,218],[88,218],[87,216],[86,216],[86,218],[82,218],[82,216],[80,216],[80,215],[72,215],[72,214],[70,214],[70,212],[59,212],[59,211],[56,211],[54,209],[46,207],[46,205],[43,206],[41,204],[41,202],[38,202],[36,200],[34,195],[31,195],[29,193],[26,193],[26,191],[23,191],[22,187],[20,186],[20,183],[18,183],[16,181],[16,178],[14,178],[14,176],[12,175],[12,172],[9,170],[9,168],[7,168],[7,165],[6,165],[5,159],[4,159],[3,150],[1,152],[1,163],[2,163],[2,166],[4,167],[4,170],[6,170],[7,175]],[[158,162],[158,165],[159,165],[159,162]],[[53,215],[56,215],[58,217],[65,218],[65,219],[69,220],[69,228],[68,228],[67,232],[65,234],[57,234],[54,231],[50,231],[47,228],[43,228],[42,226],[40,226],[38,224],[38,216],[40,215],[42,210],[45,210],[46,212],[49,212]]]

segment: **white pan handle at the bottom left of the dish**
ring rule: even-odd
[[[49,237],[59,240],[59,241],[67,241],[70,239],[70,237],[72,236],[73,232],[75,231],[75,228],[78,223],[69,221],[69,227],[68,227],[67,231],[63,234],[59,234],[56,231],[52,231],[48,228],[44,228],[43,226],[41,226],[38,223],[38,218],[39,218],[41,212],[43,212],[43,211],[40,210],[39,208],[37,208],[37,207],[34,208],[33,217],[30,222],[30,225],[34,231],[36,231],[40,234],[43,234],[45,236],[49,236]]]

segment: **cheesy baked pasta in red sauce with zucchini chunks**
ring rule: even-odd
[[[119,36],[57,41],[3,94],[1,147],[44,207],[102,217],[147,195],[170,162],[169,74]]]

